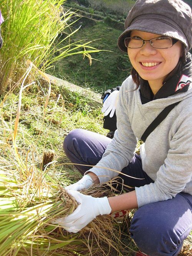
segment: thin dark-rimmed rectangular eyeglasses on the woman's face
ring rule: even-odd
[[[137,37],[127,37],[124,42],[125,46],[131,49],[141,48],[145,42],[150,42],[153,48],[166,49],[172,47],[177,40],[170,37],[156,37],[150,40],[143,40],[142,38]]]

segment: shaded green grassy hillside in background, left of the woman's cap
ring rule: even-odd
[[[94,1],[94,2],[99,2]],[[192,7],[191,0],[184,0]],[[108,88],[113,88],[122,84],[122,81],[130,74],[131,64],[126,53],[121,52],[117,46],[119,35],[124,30],[124,19],[127,12],[119,13],[112,10],[110,4],[114,2],[119,6],[124,0],[104,0],[108,3],[108,9],[101,7],[92,8],[90,2],[93,0],[68,0],[65,8],[78,10],[83,17],[75,23],[76,28],[81,26],[78,33],[75,33],[71,42],[86,38],[87,40],[95,40],[91,45],[98,49],[109,50],[111,52],[94,53],[91,56],[98,61],[93,60],[89,66],[88,59],[82,56],[73,56],[61,60],[55,64],[55,70],[49,72],[59,78],[64,78],[79,86],[95,87],[99,92]],[[135,1],[127,0],[130,8]],[[82,6],[83,5],[83,6]],[[93,6],[94,7],[94,6]]]

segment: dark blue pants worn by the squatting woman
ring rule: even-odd
[[[103,135],[76,129],[66,136],[63,147],[72,163],[96,165],[110,141],[110,138]],[[90,169],[88,166],[78,165],[76,168],[82,174]],[[134,156],[122,173],[144,178],[137,180],[119,175],[126,185],[132,187],[154,182],[142,170],[141,158],[138,155]],[[191,229],[192,196],[181,192],[175,198],[149,203],[137,209],[129,231],[138,248],[144,253],[150,256],[175,256],[180,252]]]

